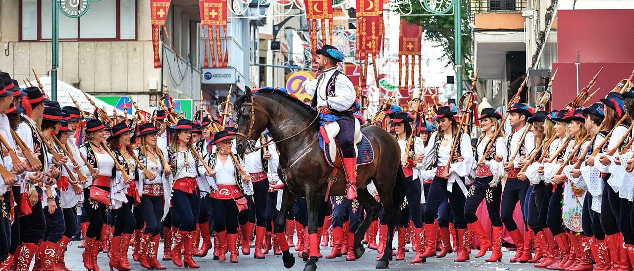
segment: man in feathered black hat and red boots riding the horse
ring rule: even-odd
[[[332,113],[339,118],[337,141],[341,146],[342,161],[348,179],[346,198],[356,198],[356,152],[354,151],[353,104],[356,98],[353,82],[336,69],[337,62],[344,60],[344,54],[334,46],[325,44],[316,51],[318,70],[322,73],[317,79],[304,84],[306,92],[313,96],[311,106],[321,113]]]

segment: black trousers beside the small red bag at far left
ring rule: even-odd
[[[46,218],[44,218],[44,209],[42,209],[42,189],[36,187],[37,203],[32,207],[32,213],[20,217],[20,236],[22,243],[39,244],[44,237],[44,230],[46,230]]]

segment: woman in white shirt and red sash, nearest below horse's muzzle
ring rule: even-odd
[[[212,172],[210,176],[211,207],[214,215],[214,234],[219,239],[216,246],[218,260],[226,260],[227,251],[231,252],[230,261],[238,262],[238,211],[246,203],[242,203],[244,196],[253,194],[253,186],[249,175],[242,175],[240,165],[231,158],[231,144],[233,136],[226,131],[214,135],[216,153],[210,153],[207,163]],[[239,161],[242,163],[242,161]],[[204,168],[200,168],[204,170]],[[220,246],[220,248],[219,248]]]

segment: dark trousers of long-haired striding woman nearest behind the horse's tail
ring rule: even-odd
[[[453,211],[453,220],[457,229],[467,229],[467,221],[465,220],[465,195],[458,183],[454,183],[451,192],[447,191],[447,179],[434,177],[434,181],[429,188],[429,198],[427,198],[427,206],[425,206],[425,224],[433,224],[434,217],[438,213],[439,206],[449,199],[451,211]],[[462,182],[462,180],[458,180]]]

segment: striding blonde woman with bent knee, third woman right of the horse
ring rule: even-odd
[[[501,161],[507,155],[507,150],[503,136],[498,135],[495,139],[493,138],[495,131],[500,126],[501,118],[500,112],[493,108],[482,109],[480,115],[482,136],[477,141],[474,158],[474,161],[477,161],[477,164],[474,163],[475,180],[469,189],[465,203],[465,218],[469,227],[474,231],[475,237],[480,241],[480,252],[475,255],[475,258],[484,256],[488,249],[493,249],[491,257],[486,259],[487,262],[498,262],[502,258],[503,228],[500,218],[502,186],[500,180],[504,172]],[[491,149],[485,153],[489,145],[491,145]],[[484,160],[481,157],[484,157]],[[475,215],[482,199],[486,199],[486,207],[489,211],[489,218],[491,218],[491,225],[493,225],[493,243],[486,237],[486,232]]]

